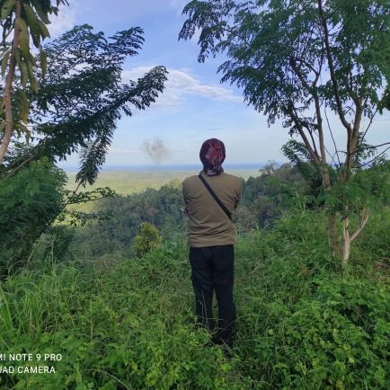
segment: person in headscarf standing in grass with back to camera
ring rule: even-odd
[[[190,246],[195,313],[199,324],[208,328],[215,343],[233,345],[235,331],[234,244],[235,226],[231,216],[241,198],[242,182],[224,173],[225,145],[217,138],[200,148],[203,170],[182,182]],[[213,193],[214,192],[214,193]],[[212,302],[217,297],[218,326],[215,333]]]

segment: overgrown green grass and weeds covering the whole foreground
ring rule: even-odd
[[[32,356],[0,361],[0,388],[390,388],[389,210],[344,275],[323,226],[303,211],[240,237],[231,359],[194,326],[182,241],[142,259],[32,265],[0,287],[0,353]],[[38,366],[55,372],[24,373]]]

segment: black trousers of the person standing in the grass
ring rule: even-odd
[[[192,287],[195,293],[195,314],[199,324],[214,332],[213,293],[218,305],[217,340],[232,345],[235,331],[233,245],[190,248]]]

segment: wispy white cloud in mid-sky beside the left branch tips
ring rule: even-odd
[[[145,75],[152,66],[138,66],[122,72],[122,80],[136,80]],[[168,81],[164,93],[158,98],[155,106],[160,108],[176,108],[185,99],[186,95],[198,95],[217,101],[241,102],[233,91],[219,85],[203,84],[199,78],[190,74],[189,69],[168,69]]]

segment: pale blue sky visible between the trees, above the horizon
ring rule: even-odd
[[[270,128],[266,118],[247,107],[235,86],[220,84],[217,66],[221,58],[197,62],[196,40],[178,41],[185,18],[182,0],[69,0],[49,26],[52,37],[88,23],[110,36],[116,31],[139,26],[144,30],[144,48],[126,64],[123,79],[136,79],[150,67],[164,65],[169,70],[164,93],[153,107],[134,111],[134,116],[118,123],[106,165],[154,164],[145,145],[162,143],[167,153],[161,164],[196,164],[199,147],[210,137],[226,145],[226,163],[285,161],[280,147],[288,141],[281,123]],[[372,144],[388,140],[390,116],[373,123]],[[335,137],[343,132],[335,129]],[[341,144],[342,145],[342,144]],[[77,164],[75,155],[66,165]]]

